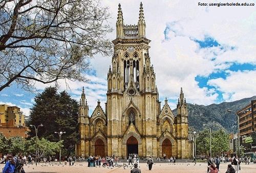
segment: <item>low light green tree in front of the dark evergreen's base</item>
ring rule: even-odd
[[[26,141],[26,152],[35,156],[35,139],[36,137],[31,138],[30,140]],[[44,158],[49,155],[55,155],[60,147],[63,145],[61,144],[62,141],[59,142],[50,142],[45,138],[37,139],[37,156],[38,158]]]

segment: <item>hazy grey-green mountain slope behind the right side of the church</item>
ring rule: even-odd
[[[222,102],[220,104],[198,105],[187,103],[188,124],[194,127],[196,131],[202,131],[203,124],[207,124],[212,129],[225,128],[227,132],[237,132],[237,118],[234,112],[229,113],[227,109],[238,111],[255,100],[256,96],[244,98],[233,102]],[[174,115],[177,110],[173,110]]]

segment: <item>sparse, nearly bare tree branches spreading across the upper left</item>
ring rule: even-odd
[[[108,8],[99,0],[0,1],[0,92],[16,83],[87,81],[88,58],[111,54]]]

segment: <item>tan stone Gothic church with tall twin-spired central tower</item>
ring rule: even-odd
[[[121,5],[118,8],[114,55],[108,72],[105,112],[89,107],[82,89],[79,128],[79,157],[89,155],[118,156],[130,153],[139,157],[188,158],[188,117],[186,100],[181,89],[174,116],[167,99],[159,101],[156,74],[148,53],[151,40],[146,38],[142,3],[138,25],[124,25]]]

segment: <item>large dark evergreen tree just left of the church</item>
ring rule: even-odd
[[[38,137],[44,137],[51,141],[59,141],[54,132],[66,132],[62,135],[63,146],[66,155],[70,155],[75,149],[75,144],[80,140],[78,133],[78,103],[66,92],[57,93],[53,87],[46,88],[35,97],[35,104],[31,109],[28,124],[44,126],[38,128]],[[35,136],[31,127],[30,136]],[[63,150],[63,152],[65,152]]]

